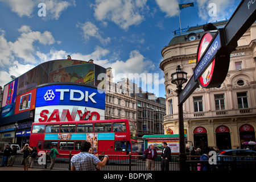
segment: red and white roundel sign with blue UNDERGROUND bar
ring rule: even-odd
[[[226,66],[223,66],[226,65],[226,61],[229,61],[229,56],[220,50],[225,46],[224,29],[215,32],[206,32],[202,36],[197,49],[194,78],[198,80],[203,88],[219,86],[220,82],[224,81],[226,73],[228,73]]]

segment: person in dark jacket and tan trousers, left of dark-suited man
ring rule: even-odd
[[[155,171],[155,158],[158,155],[158,152],[155,149],[155,145],[151,144],[143,154],[147,154],[146,158],[146,167],[147,171]]]

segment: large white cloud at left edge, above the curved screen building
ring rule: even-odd
[[[49,31],[43,33],[32,31],[29,26],[22,26],[18,31],[21,33],[18,39],[15,42],[7,42],[5,31],[0,30],[1,86],[11,81],[10,75],[18,77],[37,65],[35,42],[46,46],[55,43],[55,39]]]

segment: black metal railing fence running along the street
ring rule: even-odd
[[[56,155],[56,162],[54,168],[71,169],[72,154]],[[100,155],[99,158],[104,158]],[[3,155],[0,155],[0,164],[2,164]],[[14,166],[21,166],[23,155],[17,155]],[[36,156],[34,160],[34,167],[49,168],[51,159],[46,155],[46,163],[43,163],[42,156]],[[8,162],[7,162],[8,163]],[[9,164],[9,163],[8,163]],[[155,170],[160,171],[161,159],[158,156],[155,159]],[[179,156],[173,155],[171,157],[170,171],[179,171]],[[200,161],[200,156],[187,156],[186,170],[197,171],[201,166],[208,171],[234,171],[234,170],[255,170],[256,157],[252,156],[216,156],[209,161]],[[102,171],[147,171],[146,161],[142,159],[142,155],[109,155],[108,163],[101,168]]]

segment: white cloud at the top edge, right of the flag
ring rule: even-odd
[[[210,3],[216,5],[216,16],[212,16],[212,11],[215,11],[213,6],[209,7]],[[215,22],[216,20],[229,19],[230,14],[233,12],[232,6],[234,6],[234,0],[197,0],[196,5],[198,6],[198,15],[201,19],[207,20],[208,22]],[[210,11],[210,15],[209,15]]]

